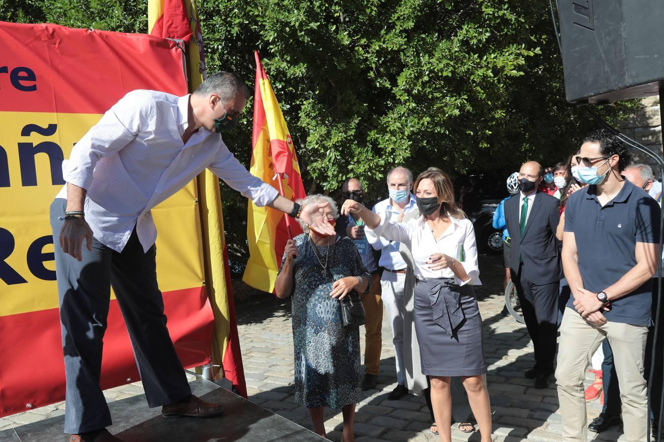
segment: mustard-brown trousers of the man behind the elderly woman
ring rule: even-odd
[[[365,307],[365,373],[378,376],[380,350],[382,349],[382,299],[380,298],[380,274],[371,275],[371,290],[362,295]]]

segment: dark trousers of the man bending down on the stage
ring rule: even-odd
[[[84,433],[111,425],[99,385],[106,317],[113,286],[138,366],[147,404],[157,407],[191,394],[182,364],[166,328],[163,299],[157,287],[156,248],[147,253],[134,229],[122,253],[96,239],[83,259],[65,254],[58,240],[66,201],[50,206],[60,327],[66,374],[65,433]]]

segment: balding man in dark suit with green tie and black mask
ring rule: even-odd
[[[535,347],[535,366],[525,376],[546,388],[556,355],[558,286],[562,277],[556,239],[558,199],[538,192],[542,166],[529,161],[519,170],[517,193],[505,201],[505,221],[512,237],[510,272],[521,311]]]

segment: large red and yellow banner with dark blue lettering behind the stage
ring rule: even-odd
[[[179,44],[161,37],[0,22],[0,416],[64,399],[64,364],[48,207],[72,146],[125,93],[185,95]],[[157,275],[184,366],[208,362],[197,186],[153,209]],[[112,296],[102,388],[139,380]]]

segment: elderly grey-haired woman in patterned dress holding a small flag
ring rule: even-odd
[[[321,205],[332,225],[339,216],[335,202],[323,195],[297,203]],[[353,240],[301,224],[305,233],[286,244],[275,284],[279,298],[293,295],[295,401],[309,409],[313,429],[323,437],[323,407],[341,408],[343,441],[352,442],[355,404],[362,398],[360,334],[359,327],[341,322],[340,300],[351,290],[369,292],[371,275]]]

